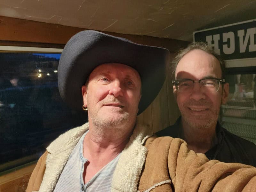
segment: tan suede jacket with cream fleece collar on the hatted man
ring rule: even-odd
[[[88,123],[62,134],[38,160],[27,192],[53,191],[69,155]],[[156,138],[137,124],[113,174],[112,192],[256,192],[256,168],[209,161],[187,148],[185,141]]]

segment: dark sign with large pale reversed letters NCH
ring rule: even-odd
[[[256,57],[256,20],[194,32],[194,41],[203,41],[224,59]]]

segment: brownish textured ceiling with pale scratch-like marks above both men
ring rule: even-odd
[[[1,0],[0,15],[193,41],[193,31],[256,19],[256,0]]]

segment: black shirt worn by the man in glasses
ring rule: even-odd
[[[158,137],[171,136],[180,138],[181,118],[171,125],[156,133]],[[242,163],[256,167],[256,145],[245,140],[228,130],[224,129],[220,123],[217,123],[216,133],[218,143],[205,153],[208,159],[217,159],[225,163]]]

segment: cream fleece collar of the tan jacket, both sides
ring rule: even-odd
[[[60,135],[46,148],[49,154],[39,192],[53,191],[68,157],[88,129],[88,123],[71,129]],[[136,124],[133,134],[116,165],[112,180],[112,192],[137,191],[141,170],[148,152],[143,144],[152,134],[153,130],[149,126]]]

